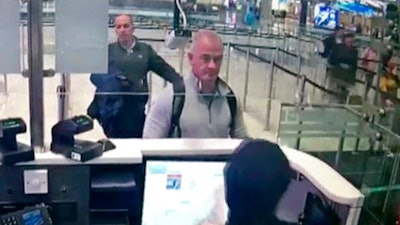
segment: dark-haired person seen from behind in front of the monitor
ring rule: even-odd
[[[289,161],[277,144],[244,141],[225,167],[227,225],[283,225],[277,206],[291,182]]]

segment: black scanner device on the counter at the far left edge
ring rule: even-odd
[[[26,132],[26,123],[22,118],[0,120],[0,162],[13,165],[35,159],[31,146],[17,142],[17,135]]]

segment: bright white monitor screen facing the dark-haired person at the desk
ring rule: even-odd
[[[143,225],[225,224],[225,162],[147,161]]]

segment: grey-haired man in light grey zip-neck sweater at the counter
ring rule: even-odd
[[[172,88],[167,87],[152,103],[144,138],[247,137],[243,111],[230,87],[218,78],[223,50],[223,43],[215,32],[200,30],[196,34],[188,53],[192,72],[184,78],[185,100],[176,132],[171,130],[175,97]],[[229,98],[235,102],[234,109]]]

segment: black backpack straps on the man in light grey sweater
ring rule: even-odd
[[[231,123],[229,124],[229,127],[231,130],[235,128],[235,118],[236,118],[236,110],[237,110],[237,101],[235,94],[233,93],[232,89],[229,87],[229,85],[221,80],[218,79],[218,83],[222,83],[224,86],[226,86],[229,89],[228,94],[226,95],[226,100],[229,105],[229,111],[231,113]],[[185,90],[184,86],[180,87],[180,90],[177,90],[177,88],[174,87],[174,98],[172,100],[172,116],[171,116],[171,127],[168,131],[168,137],[171,138],[174,136],[174,133],[176,131],[177,137],[181,138],[182,137],[182,130],[179,125],[179,120],[181,118],[183,106],[185,105]]]

